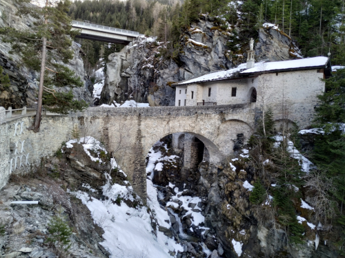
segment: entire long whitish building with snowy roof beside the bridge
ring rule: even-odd
[[[251,66],[251,68],[249,67]],[[275,119],[288,119],[303,127],[313,118],[317,95],[325,90],[323,78],[331,76],[327,57],[239,65],[173,84],[176,106],[249,104],[272,107]],[[280,118],[279,118],[280,117]]]

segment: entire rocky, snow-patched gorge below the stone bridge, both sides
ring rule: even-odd
[[[303,138],[308,148],[311,136]],[[184,151],[174,151],[167,136],[146,159],[145,206],[101,142],[70,140],[37,171],[12,175],[1,190],[1,257],[337,257],[324,240],[328,229],[313,226],[311,206],[302,199],[296,207],[308,222],[299,246],[273,227],[270,195],[259,206],[250,202],[257,179],[253,155],[239,142],[228,164],[202,160],[197,169],[181,173]],[[38,204],[15,203],[22,200]],[[71,229],[66,253],[49,241],[57,218]],[[128,238],[136,244],[128,246]]]

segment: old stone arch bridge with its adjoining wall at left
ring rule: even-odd
[[[210,162],[220,166],[233,154],[237,134],[244,133],[248,139],[253,132],[255,108],[251,104],[90,107],[68,116],[43,116],[39,133],[26,129],[32,119],[3,119],[0,125],[0,188],[10,173],[34,171],[42,158],[52,156],[62,142],[72,138],[72,130],[77,126],[81,136],[92,136],[106,145],[128,175],[133,189],[146,201],[146,156],[153,144],[172,133],[190,133],[204,143]]]

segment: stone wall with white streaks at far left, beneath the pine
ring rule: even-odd
[[[38,133],[27,129],[32,122],[27,116],[0,125],[0,189],[12,173],[36,172],[42,158],[51,157],[70,140],[79,121],[72,116],[44,116]]]

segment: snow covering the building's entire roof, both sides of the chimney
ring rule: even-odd
[[[251,74],[255,72],[267,72],[284,69],[298,69],[307,67],[323,67],[326,66],[328,58],[325,56],[317,56],[312,58],[303,58],[288,61],[277,61],[277,62],[260,62],[255,63],[255,67],[246,69],[246,63],[242,63],[236,68],[228,69],[225,71],[213,72],[210,74],[204,74],[197,76],[189,80],[183,80],[173,85],[186,85],[191,83],[201,83],[211,80],[226,80],[233,78],[235,74]]]

